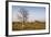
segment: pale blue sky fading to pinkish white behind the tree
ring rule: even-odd
[[[45,21],[45,8],[44,7],[23,7],[23,5],[12,5],[12,21],[19,21],[18,20],[18,14],[21,15],[19,13],[19,10],[23,8],[28,11],[29,15],[28,15],[28,21],[29,22],[34,22],[34,21]]]

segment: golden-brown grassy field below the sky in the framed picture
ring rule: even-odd
[[[33,30],[33,29],[45,29],[45,22],[12,22],[12,30]]]

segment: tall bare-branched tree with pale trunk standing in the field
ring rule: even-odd
[[[28,20],[28,10],[26,10],[24,8],[21,8],[19,10],[19,14],[20,15],[18,15],[18,18],[23,23],[22,24],[22,27],[23,27],[26,25],[27,20]]]

